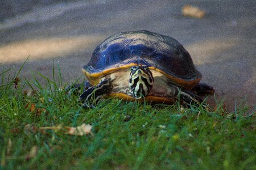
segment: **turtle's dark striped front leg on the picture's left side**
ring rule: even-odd
[[[112,83],[110,80],[103,80],[97,84],[97,86],[89,87],[87,90],[82,92],[79,96],[79,101],[84,102],[84,107],[94,108],[94,105],[98,100],[101,99],[105,94],[109,94],[112,90]]]

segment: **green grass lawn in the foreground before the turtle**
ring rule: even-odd
[[[109,99],[84,109],[77,96],[59,90],[60,71],[53,80],[38,73],[46,86],[35,78],[19,82],[18,90],[4,72],[0,169],[256,169],[255,112],[242,104],[235,112],[221,104],[209,112]],[[24,87],[39,91],[27,96]],[[93,126],[93,135],[35,130],[83,123]]]

